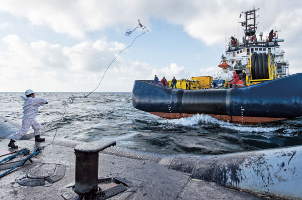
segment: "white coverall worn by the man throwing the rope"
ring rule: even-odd
[[[34,135],[40,135],[41,124],[37,122],[36,116],[38,114],[39,106],[45,105],[47,99],[39,97],[26,97],[20,96],[24,100],[23,105],[23,119],[22,126],[17,133],[12,136],[12,139],[17,141],[24,136],[30,129],[30,126],[34,129]]]

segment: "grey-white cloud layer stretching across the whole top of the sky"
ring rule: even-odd
[[[299,30],[300,1],[5,1],[0,11],[24,17],[33,25],[48,26],[55,32],[85,40],[87,33],[113,29],[124,31],[139,19],[152,29],[151,18],[180,25],[190,36],[206,45],[221,44],[231,35],[241,38],[243,21],[239,13],[259,5],[259,29],[264,18],[265,27],[288,25]],[[34,6],[33,6],[34,5]],[[236,6],[234,6],[236,5]],[[278,11],[276,13],[276,11]],[[287,19],[282,20],[282,19]],[[289,22],[289,23],[288,23]],[[289,31],[289,30],[288,30]]]

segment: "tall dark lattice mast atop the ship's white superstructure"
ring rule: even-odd
[[[244,46],[247,46],[249,44],[249,41],[254,42],[256,45],[258,45],[257,37],[256,37],[256,31],[257,31],[257,25],[259,22],[256,24],[256,18],[259,17],[259,15],[256,16],[256,10],[255,6],[253,9],[245,12],[241,12],[241,14],[245,15],[245,21],[240,22],[241,26],[243,27],[243,31],[245,33],[245,37],[243,39]],[[240,14],[240,17],[241,17]]]

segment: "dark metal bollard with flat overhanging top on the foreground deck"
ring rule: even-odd
[[[98,191],[99,152],[114,146],[116,141],[89,142],[74,147],[75,154],[75,185],[78,194]]]

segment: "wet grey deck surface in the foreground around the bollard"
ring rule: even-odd
[[[46,137],[46,142],[43,143],[23,140],[16,144],[33,151],[37,146],[45,146],[50,141]],[[0,199],[74,199],[75,193],[71,187],[65,186],[74,183],[75,155],[72,146],[76,142],[65,142],[66,145],[61,142],[60,145],[63,146],[49,145],[31,158],[29,163],[1,178]],[[13,150],[7,147],[8,143],[9,140],[6,139],[0,141],[0,152]],[[111,150],[114,148],[111,147]],[[0,157],[0,160],[3,158]],[[99,178],[117,177],[126,183],[125,191],[121,190],[109,199],[272,199],[192,179],[189,173],[165,166],[161,163],[164,160],[161,164],[157,161],[100,153]],[[4,171],[1,170],[0,173]],[[101,187],[104,189],[116,185],[117,183],[107,182]]]

